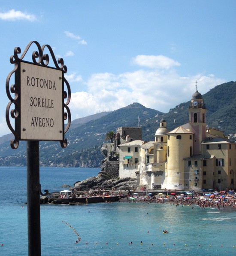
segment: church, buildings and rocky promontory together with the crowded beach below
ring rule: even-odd
[[[101,152],[105,159],[96,177],[76,182],[48,203],[170,202],[200,207],[236,207],[236,143],[206,124],[206,107],[197,90],[189,122],[169,131],[164,119],[153,141],[142,128],[109,131]],[[64,194],[63,194],[64,193]]]

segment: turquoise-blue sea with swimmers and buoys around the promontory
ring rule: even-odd
[[[99,171],[40,168],[42,191],[63,190]],[[26,167],[0,167],[0,255],[28,254],[26,189]],[[43,256],[236,255],[236,208],[115,202],[40,209]]]

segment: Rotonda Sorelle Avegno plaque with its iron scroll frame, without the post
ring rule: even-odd
[[[33,44],[37,47],[37,51],[32,53],[33,62],[23,61]],[[44,54],[45,49],[50,52],[55,67],[48,66],[49,55]],[[64,77],[67,67],[62,58],[56,61],[51,46],[41,47],[36,41],[30,42],[21,57],[18,57],[20,53],[21,49],[16,47],[14,55],[10,57],[10,62],[15,64],[15,68],[6,79],[6,93],[10,100],[6,107],[6,122],[15,136],[11,147],[16,149],[19,140],[54,140],[60,141],[61,146],[66,147],[67,139],[64,134],[71,122],[68,107],[70,85]],[[9,87],[13,73],[15,84]],[[64,83],[67,91],[64,90]],[[14,109],[10,111],[12,104]],[[10,123],[9,113],[15,120],[15,129]],[[64,128],[64,121],[67,119],[67,127]]]

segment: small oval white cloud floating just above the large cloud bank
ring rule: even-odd
[[[169,69],[173,66],[180,66],[178,61],[174,61],[163,55],[138,55],[133,62],[142,67]]]

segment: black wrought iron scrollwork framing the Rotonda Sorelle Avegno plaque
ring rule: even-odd
[[[19,144],[19,137],[15,129],[12,127],[10,119],[9,119],[9,114],[12,117],[12,119],[17,119],[20,118],[20,113],[19,113],[19,106],[18,106],[18,97],[19,97],[19,88],[18,85],[11,85],[9,86],[9,82],[11,79],[11,76],[18,70],[19,68],[19,63],[22,61],[29,51],[30,47],[32,45],[36,45],[36,51],[33,51],[32,53],[32,61],[34,64],[40,65],[47,67],[49,64],[49,55],[47,53],[44,53],[45,50],[47,49],[50,52],[51,59],[54,63],[54,66],[56,69],[62,70],[63,73],[67,73],[67,66],[64,65],[64,60],[63,58],[58,58],[56,60],[56,57],[54,55],[54,52],[48,44],[43,45],[42,47],[37,41],[31,41],[25,48],[24,52],[22,55],[19,57],[21,54],[21,48],[20,47],[15,47],[14,49],[14,55],[10,57],[10,63],[15,64],[14,69],[9,73],[6,79],[6,94],[10,100],[10,102],[7,104],[6,107],[6,123],[9,127],[9,129],[12,131],[13,135],[15,136],[15,139],[11,141],[11,147],[12,149],[16,149]],[[67,81],[67,79],[63,76],[63,82],[64,82],[64,92],[63,92],[63,97],[64,97],[64,121],[67,120],[67,127],[64,130],[64,134],[68,131],[70,128],[70,122],[71,122],[71,114],[70,114],[70,109],[68,107],[68,104],[70,103],[70,97],[71,97],[71,91],[70,91],[70,85]],[[66,87],[66,90],[65,90]],[[12,97],[12,94],[14,94],[14,97]],[[66,101],[66,102],[65,102]],[[10,110],[12,104],[14,104],[14,109]],[[66,147],[67,146],[67,140],[64,139],[61,141],[61,146]]]

